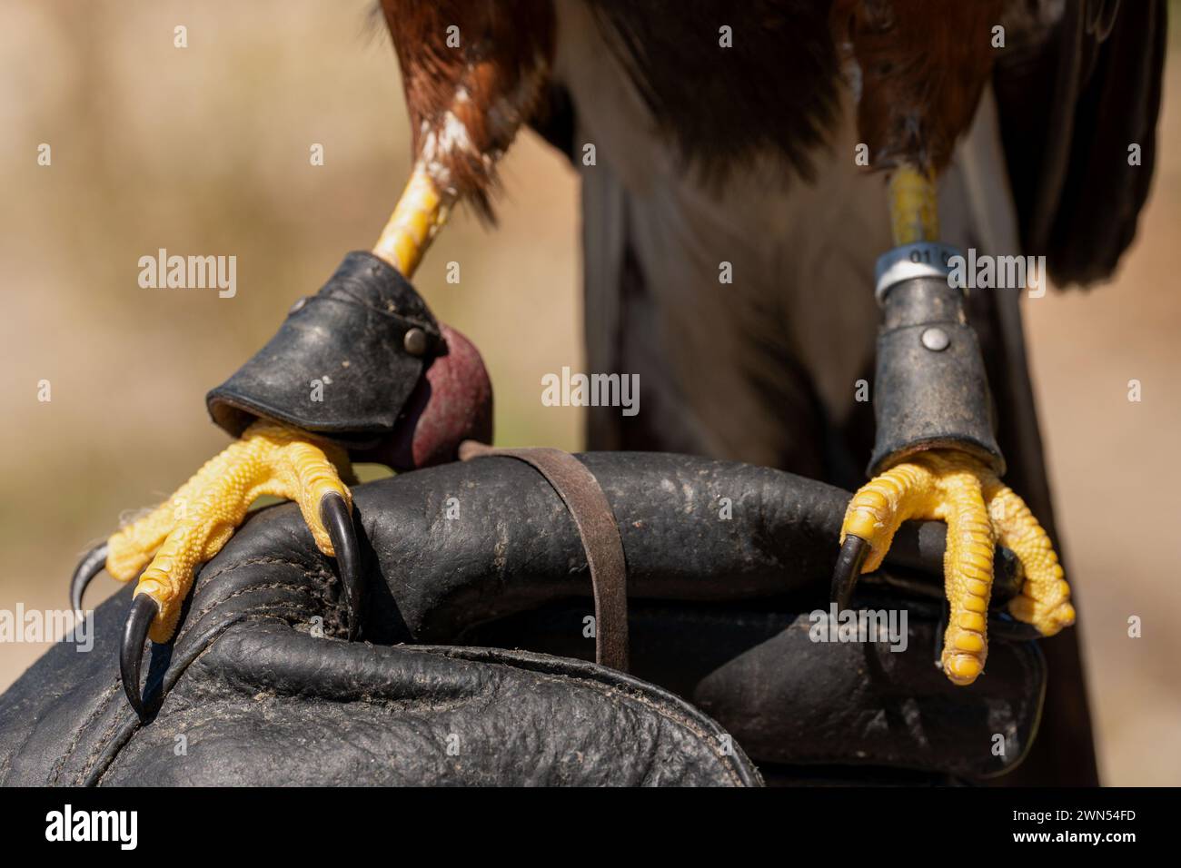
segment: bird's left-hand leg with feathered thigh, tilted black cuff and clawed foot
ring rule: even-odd
[[[415,466],[419,457],[451,459],[459,437],[490,438],[491,390],[478,353],[435,321],[409,280],[456,202],[491,216],[496,161],[547,92],[553,8],[547,0],[383,0],[381,8],[403,68],[416,162],[372,255],[350,254],[320,294],[292,308],[262,353],[210,392],[215,422],[240,439],[163,505],[87,553],[74,570],[71,599],[79,611],[87,582],[104,566],[122,581],[139,575],[120,668],[141,717],[144,641],[171,640],[196,568],[217,554],[261,495],[296,501],[317,546],[337,557],[353,637],[361,586],[346,485],[350,456],[308,431],[339,433],[354,456],[407,456]],[[522,20],[533,26],[522,27]],[[338,379],[351,383],[339,387],[350,406],[313,410],[294,390],[302,377],[319,376],[318,366],[348,368]],[[370,389],[359,371],[385,378],[383,389]],[[423,379],[431,385],[425,398]],[[396,406],[367,405],[367,391]],[[412,399],[418,403],[409,412]],[[322,398],[312,400],[326,406]],[[443,407],[448,400],[462,404]],[[432,407],[437,418],[416,426]],[[370,437],[373,430],[381,436]]]

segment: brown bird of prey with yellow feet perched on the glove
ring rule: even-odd
[[[1110,275],[1151,177],[1163,2],[383,0],[380,12],[415,156],[372,253],[409,280],[454,208],[492,216],[497,162],[522,128],[565,150],[582,181],[589,370],[637,373],[645,389],[637,417],[590,411],[590,449],[703,453],[856,489],[833,541],[846,589],[902,521],[945,521],[941,665],[955,684],[984,672],[997,542],[1024,568],[1012,615],[1045,635],[1074,622],[1018,292],[957,301],[979,334],[1006,462],[971,438],[924,443],[889,451],[866,482],[874,419],[857,384],[873,378],[875,262],[892,249],[1045,256],[1058,286]],[[296,501],[346,586],[358,581],[350,452],[257,409],[237,428],[177,492],[185,515],[170,497],[76,574],[76,606],[104,566],[138,576],[132,703],[145,635],[169,640],[194,569],[259,495]],[[1092,766],[1075,641],[1055,655],[1051,691],[1082,735],[1055,730],[1051,701],[1043,740],[1075,744]],[[1074,683],[1053,686],[1071,666]]]

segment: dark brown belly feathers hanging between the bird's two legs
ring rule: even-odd
[[[836,118],[822,0],[587,0],[661,131],[712,178],[759,154],[803,177]],[[731,28],[732,47],[719,45]]]

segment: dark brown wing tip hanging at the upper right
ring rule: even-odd
[[[1022,246],[1055,283],[1104,280],[1131,243],[1151,184],[1167,33],[1164,0],[1077,0],[996,72]],[[1128,146],[1141,146],[1129,165]]]

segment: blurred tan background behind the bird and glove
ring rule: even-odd
[[[0,0],[0,609],[65,608],[79,554],[224,448],[205,391],[376,240],[410,155],[371,6]],[[1026,305],[1108,784],[1181,783],[1181,6],[1170,12],[1136,243],[1110,286]],[[502,175],[498,228],[458,214],[415,282],[483,352],[497,442],[578,449],[580,411],[537,399],[543,373],[581,364],[576,181],[531,133]],[[235,255],[236,296],[141,288],[138,259],[162,247]],[[87,605],[116,589],[103,574]],[[1128,638],[1130,615],[1143,638]],[[0,645],[0,691],[46,647]]]

